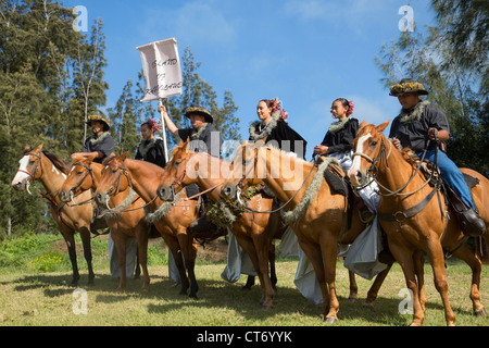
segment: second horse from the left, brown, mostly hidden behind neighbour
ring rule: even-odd
[[[82,192],[97,188],[103,165],[92,162],[93,159],[95,156],[74,160],[70,174],[60,188],[60,198],[62,201],[74,201]],[[145,221],[145,201],[127,189],[112,196],[110,204],[114,208],[114,212],[104,211],[105,214],[102,213],[102,215],[105,216],[105,222],[111,228],[111,237],[117,250],[118,266],[121,270],[117,290],[123,291],[126,287],[126,240],[129,237],[136,237],[138,260],[143,274],[142,290],[147,291],[150,284],[147,261],[148,237],[151,226]]]

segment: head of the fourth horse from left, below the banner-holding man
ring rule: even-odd
[[[188,142],[189,140],[180,141],[172,150],[172,159],[166,164],[160,186],[156,189],[156,195],[161,200],[173,201],[175,194],[190,185],[197,176],[193,173],[197,172],[199,164],[192,161],[197,152],[188,151]]]

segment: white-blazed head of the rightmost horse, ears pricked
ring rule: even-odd
[[[368,183],[369,175],[380,164],[385,164],[387,138],[383,132],[389,125],[387,121],[378,126],[362,121],[356,138],[352,142],[353,162],[348,176],[353,186],[359,187]],[[389,147],[390,149],[390,147]]]

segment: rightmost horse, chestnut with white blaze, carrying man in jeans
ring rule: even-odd
[[[413,161],[410,161],[406,154],[392,148],[392,144],[384,136],[383,132],[388,124],[389,122],[386,122],[374,126],[362,122],[353,141],[355,153],[349,176],[352,184],[359,186],[366,184],[373,175],[380,187],[379,221],[387,233],[389,249],[401,264],[408,287],[413,293],[412,325],[421,325],[424,320],[423,303],[419,301],[418,286],[415,281],[415,274],[421,270],[419,264],[416,264],[417,261],[413,260],[413,257],[421,250],[428,254],[431,263],[435,286],[441,295],[447,324],[453,325],[455,322],[455,315],[448,299],[442,246],[453,250],[452,253],[456,258],[464,260],[471,266],[473,271],[471,299],[474,311],[485,314],[478,289],[481,270],[480,256],[464,244],[466,238],[461,232],[456,219],[448,219],[449,209],[440,203],[443,200],[429,199],[438,187],[432,188],[426,185],[425,177],[414,171]],[[462,172],[479,181],[472,192],[475,203],[481,209],[480,214],[487,226],[489,221],[489,181],[472,170],[462,169]],[[383,217],[387,215],[391,215],[392,219]],[[487,234],[485,238],[487,238]]]

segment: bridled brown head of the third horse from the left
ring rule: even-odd
[[[130,186],[129,174],[125,166],[127,153],[109,158],[103,162],[104,167],[95,192],[97,204],[106,207],[111,196],[117,195]]]

